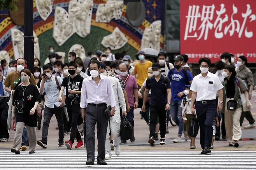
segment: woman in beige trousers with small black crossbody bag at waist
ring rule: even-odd
[[[223,110],[225,113],[226,136],[229,146],[238,147],[238,141],[242,136],[240,127],[240,116],[242,114],[242,102],[240,93],[244,93],[247,100],[247,108],[250,108],[249,96],[245,83],[236,76],[235,67],[226,66],[222,75],[225,77],[222,82],[223,88]],[[235,105],[235,106],[234,106]]]

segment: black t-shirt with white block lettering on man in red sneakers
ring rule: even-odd
[[[72,104],[74,102],[80,104],[81,94],[68,93],[68,90],[81,91],[83,80],[84,80],[84,78],[82,78],[80,75],[77,75],[74,78],[71,78],[70,76],[63,78],[61,86],[66,87],[66,101],[65,102],[67,105],[71,105],[72,101],[73,101]]]

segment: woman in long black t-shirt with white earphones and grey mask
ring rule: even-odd
[[[21,70],[21,81],[22,85],[19,85],[12,99],[12,119],[16,120],[16,132],[14,136],[13,153],[19,154],[19,147],[21,146],[23,127],[26,125],[29,137],[29,153],[35,153],[35,146],[37,144],[36,129],[37,126],[37,115],[35,110],[41,97],[37,86],[29,82],[31,72],[29,69]],[[15,109],[17,109],[16,115],[14,116]]]

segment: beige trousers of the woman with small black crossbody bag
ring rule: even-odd
[[[226,108],[225,108],[225,127],[226,127],[226,136],[227,141],[232,143],[233,140],[239,141],[242,136],[242,130],[240,127],[240,116],[242,114],[242,108],[237,108],[235,111],[227,109],[227,102],[232,100],[230,98],[226,99]]]

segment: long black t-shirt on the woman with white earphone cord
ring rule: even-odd
[[[37,126],[37,113],[30,115],[30,110],[35,102],[41,102],[41,96],[36,85],[30,83],[28,86],[19,85],[12,99],[12,105],[16,107],[16,122],[24,122],[30,127]]]

